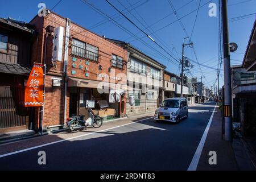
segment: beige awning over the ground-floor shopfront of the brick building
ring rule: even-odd
[[[85,80],[81,78],[68,78],[68,86],[77,86],[77,87],[85,87],[85,88],[100,88],[104,89],[104,86],[109,86],[109,89],[112,90],[133,90],[130,86],[122,85],[122,84],[114,84],[109,82],[102,81],[93,81],[93,80]]]

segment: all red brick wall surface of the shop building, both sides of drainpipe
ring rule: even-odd
[[[44,63],[44,40],[46,39],[46,28],[48,26],[53,27],[64,27],[64,39],[63,39],[63,61],[57,61],[57,67],[51,67],[51,58],[52,58],[52,40],[53,34],[48,35],[47,39],[47,53],[46,53],[46,64],[47,64],[47,76],[46,76],[46,97],[45,97],[45,107],[44,107],[44,127],[63,124],[64,121],[64,76],[63,76],[63,68],[64,68],[64,43],[65,43],[65,24],[66,19],[56,15],[55,13],[51,13],[46,17],[38,17],[36,16],[31,22],[32,25],[35,26],[36,31],[38,31],[38,36],[34,40],[32,46],[32,60],[37,63]],[[81,32],[81,33],[80,33]],[[80,33],[80,34],[77,34]],[[67,73],[68,76],[84,78],[88,80],[97,80],[97,73],[104,73],[110,76],[108,69],[111,66],[110,60],[112,59],[112,53],[118,56],[123,57],[123,60],[127,61],[127,51],[122,47],[117,46],[116,44],[109,42],[108,40],[85,30],[84,28],[78,26],[75,23],[71,23],[70,30],[71,39],[69,40],[69,57],[68,57],[68,65],[67,65]],[[99,61],[100,63],[95,63],[93,61],[89,61],[88,71],[85,71],[86,61],[82,59],[81,65],[83,65],[83,69],[79,69],[80,59],[77,59],[76,62],[76,75],[71,75],[72,68],[72,56],[71,54],[71,44],[72,38],[81,40],[82,42],[86,42],[92,44],[93,46],[98,47],[99,50]],[[102,70],[98,70],[98,65],[102,65]],[[115,76],[118,73],[124,73],[126,75],[126,64],[124,65],[124,69],[112,69],[115,72]],[[85,72],[89,73],[89,76],[85,76]],[[63,81],[61,82],[60,88],[52,88],[52,77],[63,77]],[[111,75],[113,76],[113,75]],[[121,77],[121,76],[118,76]],[[115,81],[119,82],[119,81]],[[121,83],[126,84],[126,77],[124,77]],[[126,101],[126,98],[124,98]],[[126,105],[126,104],[125,104]],[[36,113],[38,114],[38,113]],[[69,116],[69,88],[67,92],[67,113],[66,116]],[[38,122],[38,121],[37,121]]]

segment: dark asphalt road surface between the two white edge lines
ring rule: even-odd
[[[0,170],[187,170],[215,103],[192,106],[180,123],[147,119],[0,158]],[[46,152],[46,165],[38,152]]]

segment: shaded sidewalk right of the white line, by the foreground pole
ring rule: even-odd
[[[247,155],[246,147],[240,139],[233,139],[232,143],[222,140],[221,126],[221,113],[216,107],[197,171],[254,170],[250,157]],[[216,165],[210,165],[208,162],[210,151],[216,151]]]

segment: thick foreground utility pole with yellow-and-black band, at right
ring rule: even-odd
[[[222,2],[222,27],[223,27],[223,53],[224,53],[224,117],[225,140],[232,142],[232,115],[231,115],[231,71],[230,71],[230,47],[227,0]]]

